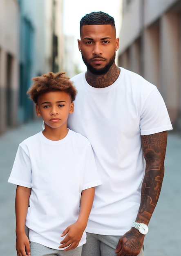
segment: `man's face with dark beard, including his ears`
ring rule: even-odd
[[[92,74],[106,74],[115,60],[119,38],[111,25],[84,25],[78,47],[87,69]]]

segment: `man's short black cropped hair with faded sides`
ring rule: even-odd
[[[93,11],[89,14],[86,14],[81,20],[80,20],[80,29],[84,25],[111,25],[115,27],[114,18],[110,16],[109,14],[102,12],[102,11]]]

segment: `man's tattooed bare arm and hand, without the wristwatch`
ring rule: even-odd
[[[141,141],[146,168],[141,188],[141,203],[135,221],[148,225],[161,191],[167,131],[141,136]],[[137,256],[143,247],[144,237],[132,227],[119,239],[116,248],[117,256]]]

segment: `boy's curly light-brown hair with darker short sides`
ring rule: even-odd
[[[68,76],[65,76],[65,72],[48,72],[42,76],[36,76],[32,78],[33,84],[27,91],[29,99],[37,104],[38,97],[46,92],[62,91],[70,95],[72,101],[75,100],[77,90],[74,87],[72,81]]]

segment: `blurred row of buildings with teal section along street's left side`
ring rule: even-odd
[[[35,117],[31,78],[63,69],[63,0],[0,0],[0,133]]]

